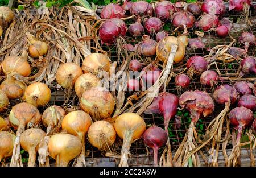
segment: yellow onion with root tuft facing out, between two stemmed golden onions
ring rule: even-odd
[[[88,130],[90,144],[103,151],[111,151],[116,135],[113,125],[107,121],[96,121]]]

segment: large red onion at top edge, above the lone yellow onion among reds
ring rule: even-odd
[[[166,22],[170,20],[172,10],[174,10],[174,6],[170,1],[160,1],[155,7],[155,16],[163,22]]]

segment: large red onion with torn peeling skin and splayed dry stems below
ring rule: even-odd
[[[182,108],[189,110],[192,119],[183,140],[184,144],[181,144],[178,148],[173,161],[178,166],[188,166],[188,159],[193,158],[193,166],[200,166],[200,159],[197,152],[190,152],[197,146],[195,145],[196,140],[194,137],[195,125],[202,116],[207,117],[208,115],[212,114],[214,110],[214,102],[208,93],[195,90],[187,91],[181,94],[179,105]],[[181,163],[177,162],[178,160]]]

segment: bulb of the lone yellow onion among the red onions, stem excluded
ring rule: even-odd
[[[170,55],[171,45],[178,42],[177,52],[174,56],[174,62],[179,63],[181,60],[184,59],[185,56],[185,45],[181,42],[180,39],[174,36],[166,36],[162,40],[158,42],[156,45],[156,55],[158,56],[159,60],[164,63]]]

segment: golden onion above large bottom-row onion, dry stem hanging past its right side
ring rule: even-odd
[[[72,111],[63,118],[61,127],[68,134],[77,136],[82,143],[82,151],[76,160],[76,166],[86,166],[85,163],[85,136],[92,125],[92,118],[84,111]]]

